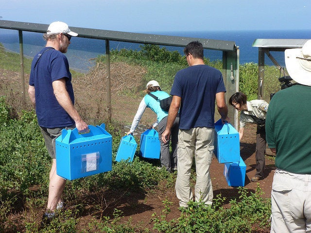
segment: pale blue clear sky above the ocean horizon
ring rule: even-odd
[[[2,20],[135,33],[311,31],[310,13],[311,0],[2,0],[0,7]]]

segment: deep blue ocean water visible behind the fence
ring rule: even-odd
[[[258,48],[252,47],[255,39],[258,38],[274,38],[274,39],[310,39],[310,31],[206,31],[206,32],[143,32],[160,35],[186,36],[194,38],[207,38],[215,40],[234,41],[240,48],[240,64],[258,63]],[[15,30],[0,29],[0,43],[4,48],[19,52],[18,32]],[[34,57],[35,54],[45,46],[41,33],[23,32],[24,55]],[[137,43],[126,42],[110,42],[110,48],[114,50],[131,49],[139,50]],[[181,47],[165,46],[168,50],[177,50],[183,54]],[[95,65],[94,59],[105,53],[105,41],[97,39],[87,39],[73,37],[66,56],[69,60],[69,65],[79,71],[86,72],[89,67]],[[271,52],[272,56],[280,64],[285,66],[284,52]],[[211,61],[222,59],[222,51],[205,50],[205,57]],[[265,64],[272,66],[273,63],[266,57]]]

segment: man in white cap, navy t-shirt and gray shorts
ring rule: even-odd
[[[46,47],[35,55],[31,66],[28,93],[32,101],[45,145],[52,157],[50,171],[49,198],[43,222],[47,223],[55,216],[55,210],[62,207],[61,194],[66,180],[56,174],[55,139],[62,129],[77,128],[80,133],[88,130],[74,107],[71,74],[67,52],[71,36],[68,25],[63,22],[50,24],[43,35]]]

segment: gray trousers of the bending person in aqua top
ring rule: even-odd
[[[178,142],[178,128],[179,128],[179,115],[176,116],[176,119],[173,123],[171,129],[171,138],[166,143],[162,141],[162,133],[165,131],[167,123],[167,116],[164,117],[158,124],[158,133],[160,140],[160,162],[161,166],[165,166],[168,172],[177,170],[177,142]],[[172,154],[170,153],[170,141],[172,141]]]

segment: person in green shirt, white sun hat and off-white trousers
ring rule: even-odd
[[[276,153],[271,191],[271,233],[311,232],[311,40],[285,50],[297,83],[276,92],[266,117],[266,139]]]

